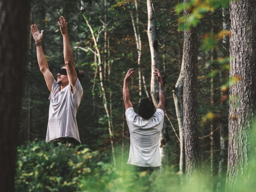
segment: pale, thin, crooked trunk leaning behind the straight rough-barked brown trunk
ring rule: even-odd
[[[181,72],[176,82],[173,92],[174,105],[176,110],[176,116],[179,124],[179,139],[180,139],[180,161],[179,161],[179,173],[185,172],[185,152],[184,152],[184,125],[183,125],[183,105],[182,94],[184,85],[184,54],[182,56]]]

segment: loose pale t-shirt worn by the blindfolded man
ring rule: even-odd
[[[77,79],[73,91],[71,91],[70,84],[61,90],[61,86],[57,84],[56,80],[53,81],[51,90],[46,142],[61,137],[72,137],[80,142],[75,118],[83,96],[79,79]]]

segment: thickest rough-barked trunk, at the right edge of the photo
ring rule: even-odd
[[[226,189],[247,177],[256,96],[256,1],[230,3],[230,107]],[[239,179],[238,179],[239,178]]]

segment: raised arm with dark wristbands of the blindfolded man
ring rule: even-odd
[[[39,69],[41,73],[44,75],[47,88],[51,92],[54,77],[53,77],[53,74],[49,71],[48,62],[46,60],[46,57],[43,51],[42,39],[43,39],[44,30],[42,30],[41,33],[39,33],[37,26],[31,25],[31,32],[32,32],[34,41],[36,42],[36,56],[37,56]]]

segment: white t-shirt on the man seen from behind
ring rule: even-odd
[[[161,166],[159,139],[164,123],[164,111],[157,109],[151,118],[145,120],[130,107],[125,115],[131,142],[127,163],[141,167]]]

